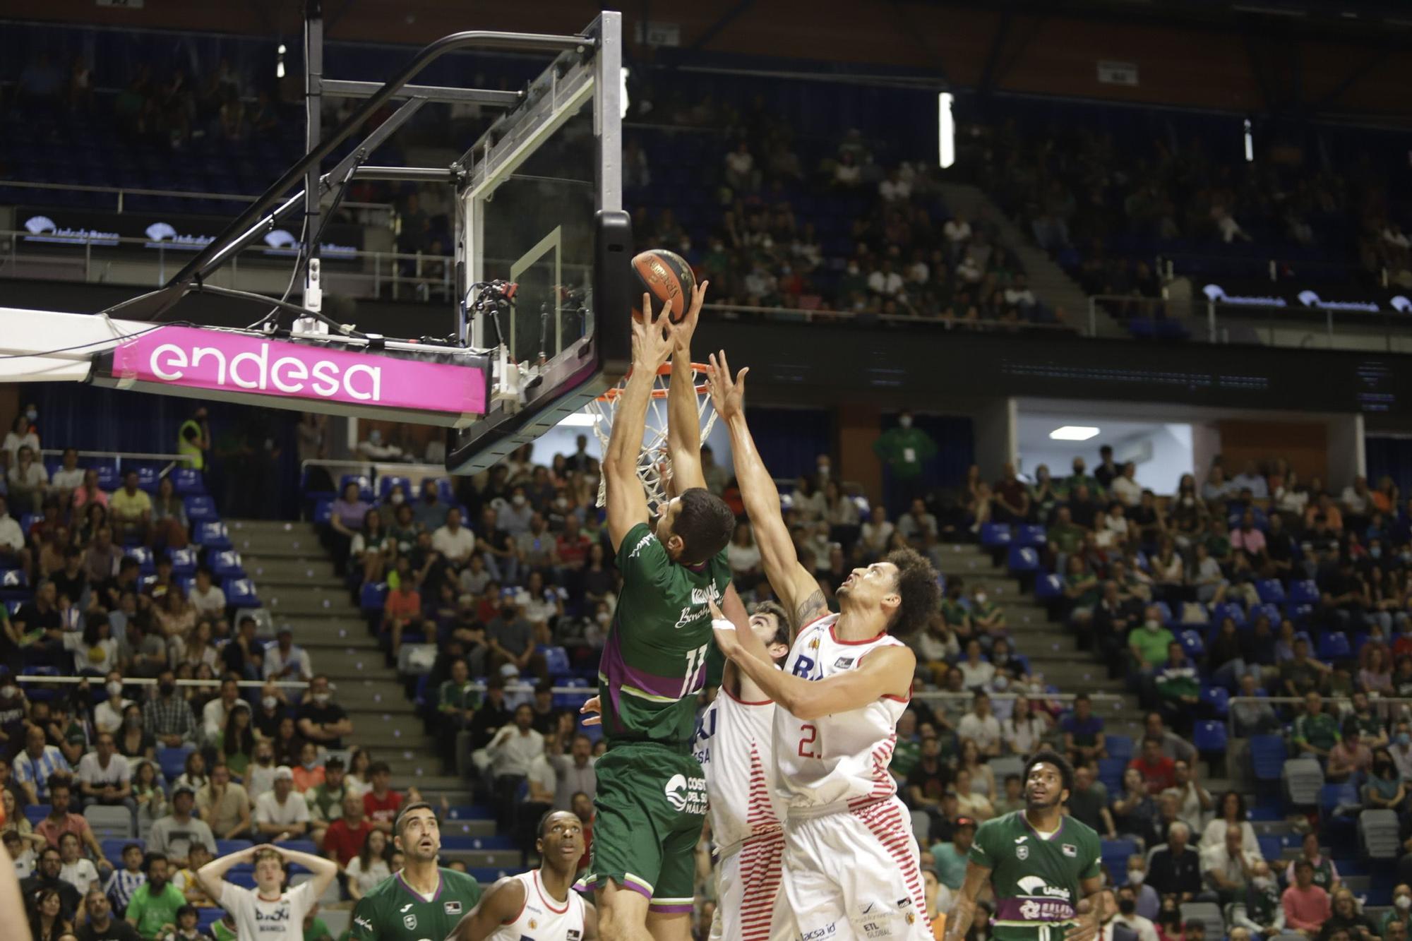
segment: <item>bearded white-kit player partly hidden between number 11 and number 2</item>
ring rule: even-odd
[[[775,663],[789,654],[789,619],[758,605],[750,630]],[[702,763],[707,819],[720,860],[712,941],[768,941],[784,855],[784,798],[775,790],[775,704],[726,663],[717,695],[696,726],[692,754]]]

